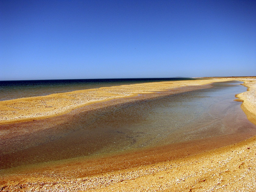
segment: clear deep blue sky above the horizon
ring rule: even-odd
[[[256,76],[256,1],[0,1],[0,80]]]

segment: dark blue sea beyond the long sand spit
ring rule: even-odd
[[[192,78],[138,78],[138,79],[67,79],[67,80],[20,80],[0,81],[0,101],[65,93],[118,85],[193,80]]]

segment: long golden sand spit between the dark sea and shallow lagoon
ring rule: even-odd
[[[67,93],[50,94],[47,96],[0,101],[0,124],[33,121],[59,116],[68,113],[73,109],[96,102],[108,101],[116,98],[132,97],[140,93],[170,90],[183,86],[205,85],[213,82],[233,79],[234,78],[215,78],[143,83],[101,87],[98,89],[88,89]]]

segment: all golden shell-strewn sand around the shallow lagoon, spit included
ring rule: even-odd
[[[186,91],[189,87],[230,80],[243,81],[248,88],[236,97],[237,101],[243,101],[241,108],[256,125],[255,77],[123,85],[0,101],[0,124],[52,118],[90,104],[103,104],[102,101],[112,102],[117,98],[125,101],[138,94],[182,91],[183,87]],[[19,135],[24,130],[12,131]],[[9,134],[2,133],[2,138]],[[2,169],[0,191],[255,191],[256,136],[232,145],[227,141],[208,146],[208,141],[201,140],[205,144],[200,148],[196,147],[196,140],[183,143],[176,158],[169,157],[173,148],[179,146],[165,146],[101,158],[40,163],[29,169],[26,166]],[[187,150],[190,150],[188,155]]]

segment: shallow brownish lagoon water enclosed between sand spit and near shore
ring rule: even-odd
[[[210,89],[80,112],[55,123],[13,124],[46,129],[1,143],[0,165],[6,168],[232,133],[255,134],[256,126],[247,120],[241,103],[233,101],[235,94],[246,91],[238,83],[215,83]]]

